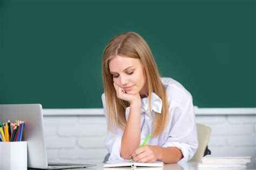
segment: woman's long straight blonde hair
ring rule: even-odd
[[[102,74],[104,82],[104,93],[106,99],[106,117],[110,131],[117,125],[124,129],[126,125],[125,109],[129,107],[129,102],[117,98],[116,90],[113,86],[113,77],[110,74],[109,62],[115,56],[127,56],[139,59],[146,73],[146,83],[149,88],[149,101],[151,93],[156,93],[163,101],[161,114],[154,116],[153,137],[158,136],[165,129],[169,115],[169,104],[166,98],[166,91],[160,80],[156,62],[146,41],[134,32],[119,34],[110,40],[104,49],[102,58]],[[149,102],[151,108],[151,102]]]

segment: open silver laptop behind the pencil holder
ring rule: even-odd
[[[0,104],[0,121],[24,121],[24,140],[28,141],[28,168],[65,169],[95,165],[49,163],[44,140],[44,122],[41,104]]]

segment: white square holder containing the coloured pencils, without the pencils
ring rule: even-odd
[[[0,169],[27,169],[28,143],[26,141],[0,142]]]

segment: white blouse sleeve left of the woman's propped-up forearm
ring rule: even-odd
[[[104,115],[107,118],[105,94],[102,95],[102,103],[103,103]],[[104,145],[107,148],[107,151],[109,151],[110,153],[109,160],[123,159],[120,155],[123,133],[124,131],[117,127],[114,127],[113,132],[111,132],[109,125],[107,125],[107,134],[104,141]]]

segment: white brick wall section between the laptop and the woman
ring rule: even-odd
[[[104,147],[104,116],[44,116],[48,160],[97,164],[107,151]]]

